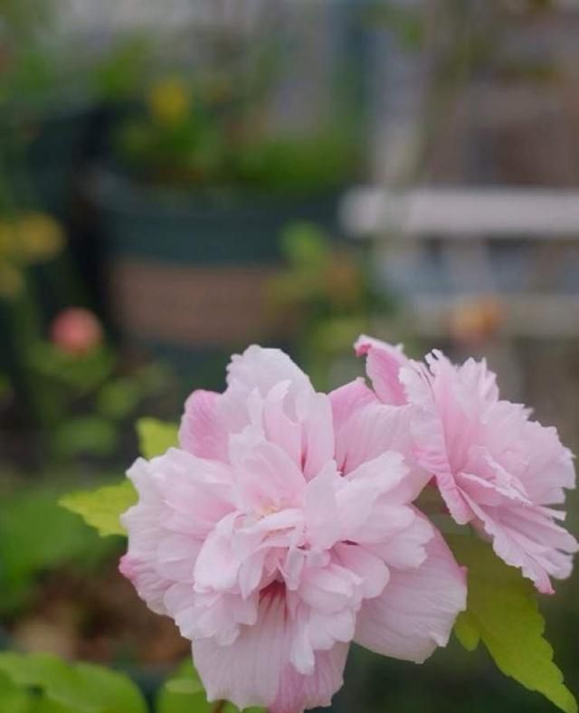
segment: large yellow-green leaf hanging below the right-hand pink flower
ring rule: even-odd
[[[503,673],[542,693],[565,713],[576,713],[577,703],[543,636],[545,620],[533,585],[486,543],[474,537],[448,539],[457,560],[469,570],[467,611],[454,630],[460,643],[472,651],[482,641]]]

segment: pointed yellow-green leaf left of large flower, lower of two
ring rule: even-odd
[[[137,492],[130,480],[123,480],[119,485],[105,485],[97,490],[79,490],[59,500],[63,508],[80,515],[102,537],[127,534],[119,518],[136,502]]]

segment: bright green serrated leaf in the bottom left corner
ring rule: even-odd
[[[58,704],[47,709],[74,713],[146,713],[137,686],[114,670],[69,664],[46,653],[0,653],[0,671],[22,689],[40,689]]]

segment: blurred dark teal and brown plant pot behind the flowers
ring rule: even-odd
[[[282,229],[308,221],[337,233],[338,192],[217,201],[146,189],[102,170],[91,193],[121,337],[161,351],[205,387],[221,385],[232,349],[283,340],[268,299]]]

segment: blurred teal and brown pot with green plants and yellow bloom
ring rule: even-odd
[[[337,202],[359,165],[351,132],[274,134],[264,107],[231,78],[167,77],[115,131],[92,195],[122,331],[213,364],[263,333],[282,227],[338,233]]]

